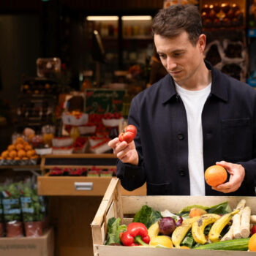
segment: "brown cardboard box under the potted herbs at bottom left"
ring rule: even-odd
[[[53,228],[37,238],[0,238],[0,255],[3,256],[53,256]]]

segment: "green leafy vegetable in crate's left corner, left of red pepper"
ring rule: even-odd
[[[121,244],[119,234],[127,230],[126,225],[120,225],[120,218],[110,218],[108,219],[107,225],[107,240],[105,245],[108,244]]]

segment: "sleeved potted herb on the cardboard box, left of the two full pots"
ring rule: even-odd
[[[4,208],[4,222],[6,223],[7,237],[23,236],[23,226],[20,208],[20,189],[18,184],[12,183],[2,191]]]

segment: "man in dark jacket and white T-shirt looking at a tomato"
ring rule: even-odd
[[[148,195],[255,195],[256,91],[203,60],[206,36],[192,5],[160,10],[152,30],[168,75],[132,99],[132,143],[110,141],[125,189]],[[228,181],[205,183],[222,165]]]

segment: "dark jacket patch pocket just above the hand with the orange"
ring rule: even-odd
[[[252,156],[251,118],[222,120],[222,155],[233,162]]]

